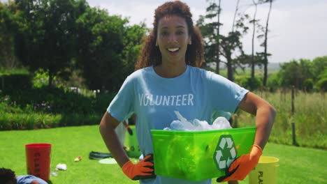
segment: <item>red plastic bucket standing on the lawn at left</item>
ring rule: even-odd
[[[49,181],[51,144],[27,144],[25,149],[27,174]]]

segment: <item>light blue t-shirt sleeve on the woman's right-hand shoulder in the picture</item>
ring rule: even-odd
[[[235,113],[249,91],[213,72],[208,72],[207,76],[208,95],[213,109]]]

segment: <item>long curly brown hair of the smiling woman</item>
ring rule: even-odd
[[[203,38],[197,26],[193,25],[192,14],[189,6],[181,1],[169,1],[163,3],[154,11],[153,29],[147,36],[143,47],[140,50],[136,70],[147,66],[158,66],[161,64],[161,52],[156,46],[158,22],[167,15],[177,15],[185,19],[189,35],[191,36],[191,45],[187,46],[185,61],[189,66],[201,67],[203,63]]]

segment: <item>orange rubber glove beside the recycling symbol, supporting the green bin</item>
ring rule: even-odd
[[[262,149],[260,146],[254,144],[251,146],[249,153],[234,160],[231,166],[226,169],[226,176],[217,178],[217,182],[244,180],[247,174],[256,167],[261,155]]]

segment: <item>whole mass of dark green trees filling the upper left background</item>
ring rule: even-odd
[[[15,0],[1,3],[0,15],[0,66],[2,56],[15,52],[30,72],[48,74],[48,86],[78,70],[89,89],[117,91],[133,72],[147,31],[85,0]]]

